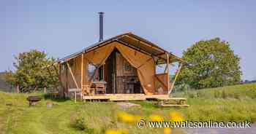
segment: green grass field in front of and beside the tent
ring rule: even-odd
[[[111,131],[119,134],[164,133],[162,129],[140,129],[136,122],[122,122],[118,117],[120,111],[147,120],[151,119],[152,114],[167,120],[169,114],[175,111],[184,120],[190,121],[211,119],[224,122],[256,122],[256,84],[178,92],[174,96],[188,98],[190,105],[189,108],[182,109],[160,109],[151,101],[135,101],[141,108],[121,109],[116,103],[74,103],[70,100],[54,101],[45,98],[37,106],[29,107],[26,101],[28,95],[0,92],[0,134],[79,134],[105,133],[106,130],[120,130]],[[10,102],[12,106],[6,106]],[[47,102],[57,105],[48,108]],[[86,125],[86,128],[79,129],[80,124]],[[182,133],[181,130],[173,131]]]

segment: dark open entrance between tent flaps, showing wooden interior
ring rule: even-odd
[[[143,93],[140,80],[138,79],[137,69],[134,68],[117,49],[111,52],[103,65],[103,69],[104,80],[107,82],[106,93]]]

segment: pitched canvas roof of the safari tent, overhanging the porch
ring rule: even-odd
[[[167,52],[166,50],[162,49],[161,47],[158,47],[156,44],[147,41],[146,39],[141,38],[140,36],[137,36],[133,33],[123,33],[118,36],[114,36],[110,39],[105,39],[102,42],[97,42],[96,44],[92,44],[89,47],[86,47],[85,49],[81,50],[80,52],[75,52],[72,55],[68,55],[64,58],[61,58],[57,60],[56,63],[64,63],[65,61],[75,58],[78,55],[82,54],[83,52],[90,52],[91,50],[96,50],[99,47],[105,46],[107,44],[110,44],[111,42],[119,42],[121,44],[126,45],[127,47],[131,47],[132,49],[138,50],[140,52],[145,53],[146,55],[151,55],[155,58],[157,58],[157,64],[165,63],[166,53],[169,53],[169,62],[177,62],[183,60],[181,58],[178,58],[178,56],[173,55],[170,52]]]

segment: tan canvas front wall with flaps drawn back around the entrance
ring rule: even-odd
[[[105,63],[113,49],[116,48],[121,55],[138,71],[141,86],[146,94],[154,93],[154,60],[151,56],[138,52],[118,42],[112,42],[85,54],[86,61],[100,66]]]

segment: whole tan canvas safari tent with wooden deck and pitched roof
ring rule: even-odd
[[[178,63],[170,79],[170,64]],[[82,99],[134,99],[167,96],[176,82],[183,60],[133,33],[102,40],[56,62],[61,95]],[[156,73],[156,67],[165,71]],[[137,96],[137,97],[136,97]],[[143,96],[143,97],[142,97]],[[146,97],[145,97],[146,96]]]

